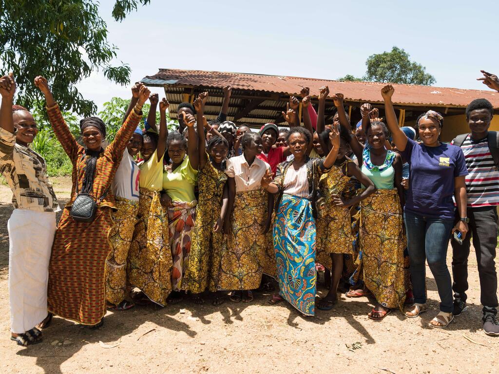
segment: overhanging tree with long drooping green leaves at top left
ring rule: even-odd
[[[139,3],[151,0],[115,0],[112,15],[122,21]],[[64,110],[89,116],[97,110],[75,84],[93,71],[112,82],[130,82],[130,67],[112,66],[117,47],[107,41],[106,22],[96,0],[0,0],[0,76],[11,71],[17,82],[17,100],[27,108],[42,102],[34,87],[45,76]]]

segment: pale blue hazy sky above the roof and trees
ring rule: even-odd
[[[435,86],[488,89],[480,69],[499,73],[497,1],[151,0],[121,23],[101,0],[114,64],[132,82],[159,68],[336,79],[362,76],[366,58],[396,45],[435,76]],[[129,87],[94,73],[78,84],[101,109]],[[160,97],[164,91],[153,88]]]

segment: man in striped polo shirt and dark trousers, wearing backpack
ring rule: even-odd
[[[453,144],[461,146],[469,173],[466,176],[467,216],[477,254],[481,303],[484,306],[484,332],[488,335],[499,335],[499,322],[496,317],[498,280],[494,262],[498,232],[496,206],[499,205],[499,171],[489,147],[489,139],[496,140],[495,133],[489,136],[493,113],[492,104],[488,100],[473,100],[466,109],[471,133],[456,137]],[[497,149],[494,150],[496,151]],[[456,219],[460,219],[459,214]],[[461,315],[468,308],[466,291],[471,236],[467,235],[463,244],[455,239],[451,240],[455,316]]]

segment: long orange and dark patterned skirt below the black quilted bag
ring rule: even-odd
[[[48,266],[48,310],[82,325],[106,314],[106,259],[111,208],[97,209],[92,222],[76,222],[65,208],[55,232]]]

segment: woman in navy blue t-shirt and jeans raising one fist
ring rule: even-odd
[[[460,231],[464,239],[468,231],[465,186],[468,170],[461,148],[440,142],[443,117],[439,113],[430,110],[418,118],[421,144],[407,138],[398,126],[393,109],[394,91],[391,84],[381,90],[386,120],[395,145],[411,167],[405,225],[414,304],[406,310],[405,315],[415,318],[427,310],[425,260],[428,260],[441,300],[440,313],[429,325],[444,328],[454,318],[447,247],[451,232]],[[461,216],[454,227],[453,195],[456,196]]]

